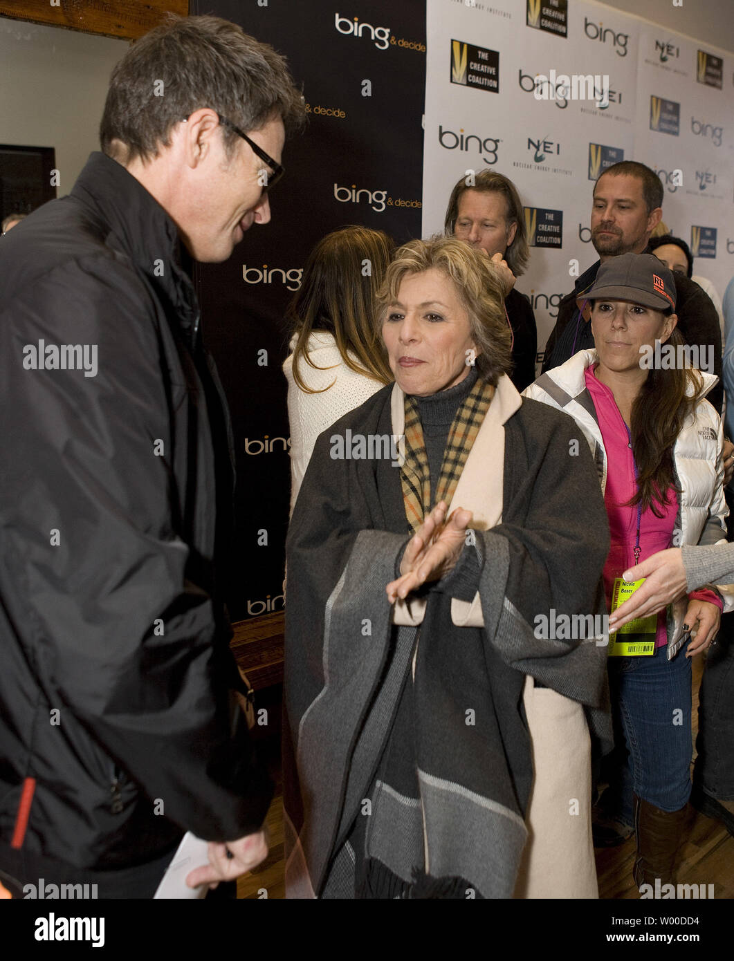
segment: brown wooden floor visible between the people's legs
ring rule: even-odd
[[[694,742],[698,727],[698,687],[703,669],[700,657],[694,658]],[[270,853],[266,861],[251,875],[238,882],[238,898],[284,898],[283,881],[283,796],[277,760],[271,774],[276,780],[276,795],[267,812]],[[734,838],[720,821],[695,813],[688,836],[680,851],[678,879],[685,884],[713,884],[717,899],[734,898]],[[619,848],[596,850],[596,873],[599,897],[607,899],[639,898],[632,880],[635,859],[634,836]]]

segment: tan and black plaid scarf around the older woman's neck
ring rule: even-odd
[[[459,482],[468,452],[474,443],[484,415],[494,397],[494,387],[482,377],[476,379],[464,404],[456,411],[451,430],[448,431],[446,449],[443,452],[441,476],[436,487],[436,503],[451,504],[456,484]],[[423,428],[420,424],[418,402],[415,397],[405,397],[405,458],[400,468],[400,483],[408,529],[415,533],[431,512],[431,479],[428,456],[425,452]]]

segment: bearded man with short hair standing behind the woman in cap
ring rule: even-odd
[[[543,373],[551,367],[558,367],[576,351],[594,347],[592,325],[576,306],[576,298],[583,297],[595,282],[596,272],[604,260],[620,254],[650,253],[647,248],[650,234],[663,215],[660,179],[644,163],[635,160],[621,160],[608,167],[596,181],[593,196],[592,243],[599,259],[578,278],[573,290],[559,305],[556,325],[545,344]],[[711,298],[697,283],[678,271],[673,273],[673,278],[678,331],[688,344],[711,348],[714,369],[709,373],[716,374],[720,381],[707,399],[721,413],[719,316]]]

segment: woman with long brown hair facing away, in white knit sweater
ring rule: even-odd
[[[392,382],[374,330],[374,296],[393,243],[367,227],[343,227],[318,241],[288,311],[291,512],[321,431]]]

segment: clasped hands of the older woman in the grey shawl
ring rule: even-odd
[[[466,541],[471,511],[457,507],[446,520],[446,503],[436,505],[408,542],[400,564],[400,577],[386,587],[394,604],[405,599],[426,580],[440,580],[456,565]]]

